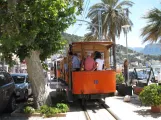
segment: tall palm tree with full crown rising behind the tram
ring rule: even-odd
[[[87,17],[92,20],[93,24],[98,24],[98,10],[101,10],[102,16],[102,35],[104,39],[112,40],[113,55],[114,55],[114,67],[116,68],[116,38],[119,37],[122,31],[122,26],[129,24],[132,26],[131,20],[128,15],[125,14],[125,10],[128,11],[128,7],[131,7],[133,2],[131,1],[119,1],[119,0],[102,0],[101,3],[93,5]],[[129,11],[128,11],[129,12]],[[127,13],[128,13],[127,12]],[[128,30],[131,30],[129,28]],[[124,30],[125,32],[125,30]]]

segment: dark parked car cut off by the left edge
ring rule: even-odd
[[[16,109],[15,83],[9,73],[0,70],[0,112]]]

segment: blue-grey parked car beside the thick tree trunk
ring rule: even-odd
[[[11,74],[15,82],[15,93],[17,100],[28,100],[29,95],[32,94],[31,84],[26,73],[14,73]]]

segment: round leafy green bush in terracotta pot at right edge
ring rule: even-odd
[[[161,111],[161,86],[157,84],[151,84],[144,87],[139,94],[139,98],[144,105],[151,106],[152,112]]]

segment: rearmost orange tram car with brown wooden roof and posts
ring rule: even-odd
[[[113,42],[73,42],[70,52],[77,53],[83,60],[87,52],[99,51],[104,59],[104,69],[99,71],[72,71],[72,57],[67,55],[68,97],[75,99],[101,99],[116,91],[116,70],[110,68],[110,49]]]

